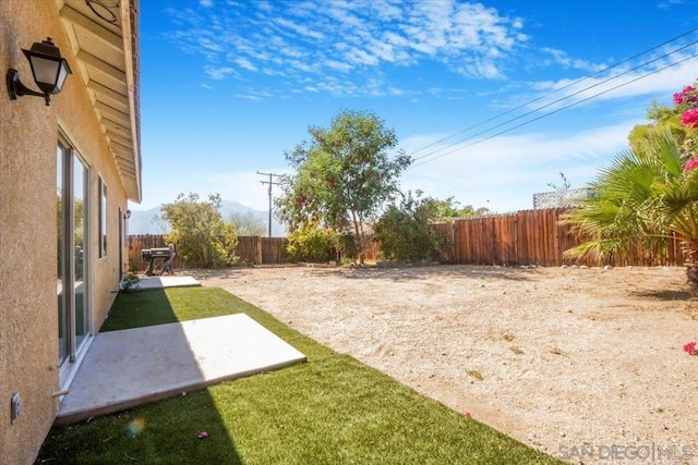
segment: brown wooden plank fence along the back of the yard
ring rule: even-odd
[[[448,237],[438,257],[442,264],[453,265],[561,265],[588,266],[681,266],[681,241],[667,238],[660,254],[642,248],[641,243],[630,247],[624,257],[606,257],[604,261],[565,258],[565,250],[581,244],[585,238],[575,235],[569,225],[559,224],[565,210],[522,210],[512,215],[459,219],[436,224],[436,230]],[[286,262],[286,237],[239,236],[237,255],[248,265]],[[132,235],[129,237],[131,269],[145,270],[141,249],[167,247],[161,235]],[[368,247],[366,259],[377,257],[377,244]],[[173,268],[182,265],[174,259]]]

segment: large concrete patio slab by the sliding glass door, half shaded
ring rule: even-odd
[[[160,278],[160,286],[167,284]],[[302,353],[244,314],[100,332],[62,397],[56,424],[302,362]]]

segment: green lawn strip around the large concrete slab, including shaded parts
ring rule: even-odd
[[[38,463],[559,463],[214,287],[119,294],[103,331],[245,313],[309,362],[51,429]],[[201,431],[208,437],[198,439]]]

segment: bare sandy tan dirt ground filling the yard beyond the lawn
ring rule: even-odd
[[[698,357],[682,348],[698,314],[681,268],[191,274],[569,462],[698,463]]]

